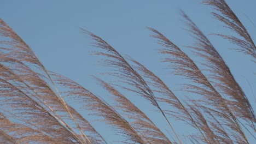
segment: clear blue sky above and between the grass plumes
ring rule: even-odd
[[[247,27],[256,41],[256,1],[226,1]],[[223,28],[223,24],[213,19],[213,11],[199,0],[179,1],[2,1],[0,17],[26,41],[34,50],[45,67],[56,73],[65,75],[90,91],[104,98],[102,89],[98,88],[90,75],[96,75],[104,80],[108,77],[99,75],[104,72],[97,61],[100,57],[90,55],[91,39],[79,28],[84,28],[117,49],[121,54],[129,55],[141,62],[156,75],[160,76],[177,95],[183,95],[179,84],[184,83],[181,77],[171,76],[167,65],[160,63],[161,55],[157,53],[160,47],[155,39],[149,37],[151,32],[146,27],[158,29],[188,52],[196,62],[200,61],[184,46],[193,44],[193,39],[184,29],[186,26],[179,14],[179,9],[187,13],[197,26],[212,41],[213,45],[229,65],[235,79],[244,89],[251,104],[256,110],[256,73],[255,63],[250,57],[235,50],[236,45],[229,44],[211,33],[232,34]],[[254,24],[253,24],[254,23]],[[142,99],[133,98],[132,101]],[[141,102],[139,102],[141,103]],[[144,104],[144,103],[143,103]],[[145,103],[141,107],[145,107]],[[143,109],[143,108],[142,108]],[[148,110],[154,110],[148,106]],[[154,111],[148,112],[150,117],[156,117]],[[163,118],[154,120],[165,131],[161,123]],[[112,143],[115,136],[104,133],[102,125],[95,125],[97,130]],[[101,128],[102,127],[102,128]],[[184,124],[176,125],[179,134],[187,128]],[[166,132],[166,131],[165,131]],[[168,134],[167,134],[168,135]]]

